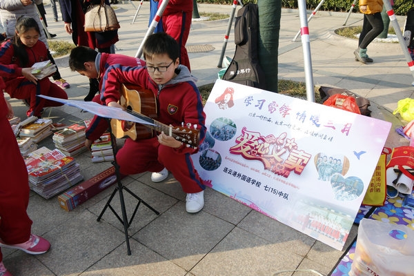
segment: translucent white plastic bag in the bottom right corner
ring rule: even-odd
[[[351,276],[414,276],[414,230],[385,221],[362,219]]]

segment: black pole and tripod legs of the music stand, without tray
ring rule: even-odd
[[[115,187],[115,190],[112,192],[112,195],[110,195],[108,201],[106,201],[105,207],[103,207],[103,209],[101,211],[101,214],[97,218],[97,221],[101,220],[101,217],[103,216],[103,213],[105,213],[106,208],[109,208],[112,211],[112,213],[115,215],[115,217],[117,217],[117,219],[119,221],[121,221],[121,224],[124,224],[126,248],[127,248],[127,251],[128,251],[128,255],[131,255],[131,249],[130,249],[130,243],[129,243],[129,237],[128,237],[128,227],[131,225],[132,219],[134,219],[135,215],[137,214],[137,210],[138,210],[139,205],[141,203],[144,204],[145,206],[150,208],[150,210],[152,210],[152,212],[154,212],[156,215],[159,215],[159,212],[157,210],[155,210],[154,208],[152,208],[149,204],[147,204],[146,201],[142,200],[140,197],[135,195],[135,193],[132,193],[132,191],[130,189],[126,188],[126,186],[124,186],[124,184],[122,184],[121,175],[119,174],[119,165],[117,164],[117,139],[115,138],[115,135],[113,135],[113,133],[112,133],[112,128],[110,126],[110,119],[107,118],[106,120],[108,121],[108,125],[109,125],[110,141],[111,141],[111,144],[112,144],[112,153],[114,155],[114,160],[112,161],[112,165],[115,167],[115,175],[117,176],[118,186]],[[126,192],[128,192],[130,195],[132,195],[132,197],[135,197],[136,199],[138,199],[137,206],[135,206],[134,213],[132,213],[132,216],[131,216],[129,221],[128,221],[128,216],[126,215],[126,208],[125,208],[123,190],[126,190]],[[110,202],[112,201],[112,199],[114,198],[114,196],[117,192],[119,193],[119,200],[121,201],[122,219],[121,219],[121,217],[119,217],[119,215],[117,214],[115,209],[110,205]]]

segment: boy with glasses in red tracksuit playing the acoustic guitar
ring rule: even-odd
[[[151,90],[157,98],[158,119],[167,126],[181,123],[197,126],[199,144],[206,136],[206,114],[195,77],[186,66],[179,64],[177,41],[165,32],[151,34],[143,48],[146,67],[110,66],[103,76],[101,100],[107,106],[121,108],[121,83],[132,83]],[[133,141],[126,139],[117,153],[123,175],[158,172],[164,166],[181,184],[188,213],[197,213],[204,206],[203,181],[195,170],[190,155],[197,149],[187,147],[161,132],[157,137]]]

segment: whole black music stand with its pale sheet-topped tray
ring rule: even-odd
[[[94,115],[97,115],[99,117],[103,117],[103,118],[108,120],[108,125],[109,125],[109,129],[110,129],[110,140],[111,140],[111,143],[112,143],[112,152],[113,152],[113,155],[114,155],[114,161],[112,162],[112,164],[115,167],[115,175],[117,177],[118,185],[115,188],[115,190],[112,192],[112,195],[110,195],[110,197],[109,197],[108,201],[106,202],[105,207],[101,211],[101,214],[99,215],[97,221],[99,221],[101,219],[103,213],[105,213],[105,211],[106,211],[106,208],[109,207],[110,210],[112,210],[112,213],[114,213],[114,215],[117,217],[117,219],[119,219],[119,221],[121,221],[121,224],[124,224],[126,248],[128,250],[128,255],[131,255],[131,249],[130,249],[129,237],[128,237],[128,227],[130,226],[130,224],[132,222],[132,219],[135,217],[139,205],[141,203],[144,204],[145,206],[150,208],[150,210],[152,210],[152,212],[154,212],[157,215],[159,215],[159,212],[157,212],[157,210],[152,208],[149,204],[147,204],[144,200],[142,200],[137,195],[132,193],[131,190],[129,190],[128,188],[126,188],[126,186],[124,186],[124,184],[122,184],[121,177],[119,175],[119,166],[117,164],[117,159],[116,159],[117,140],[115,138],[115,135],[112,134],[112,128],[110,126],[110,119],[133,121],[133,122],[139,123],[139,124],[148,124],[148,122],[144,121],[142,119],[139,119],[139,118],[137,118],[133,115],[130,115],[128,112],[125,112],[124,110],[121,110],[120,108],[113,108],[113,107],[110,107],[110,106],[101,106],[99,103],[95,103],[93,101],[75,101],[75,100],[70,100],[70,99],[59,99],[59,98],[55,98],[55,97],[49,97],[49,96],[45,96],[45,95],[37,95],[37,96],[41,97],[41,98],[44,98],[44,99],[50,99],[52,101],[57,101],[59,103],[64,103],[64,104],[67,104],[68,106],[75,106],[77,108],[81,108],[82,110],[86,110],[86,111],[88,111],[88,112],[90,112]],[[132,217],[130,218],[129,221],[128,221],[128,217],[126,215],[126,208],[125,208],[123,190],[126,190],[128,193],[130,193],[130,195],[132,195],[133,197],[138,199],[137,206],[135,207],[134,213],[132,213]],[[115,209],[112,208],[112,206],[110,205],[110,201],[112,201],[113,197],[115,196],[115,194],[117,192],[119,192],[119,200],[121,201],[122,219],[121,219],[121,217],[119,217],[117,212],[115,212]]]

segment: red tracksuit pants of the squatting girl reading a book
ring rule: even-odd
[[[32,115],[41,117],[41,110],[44,107],[63,106],[63,103],[43,99],[37,97],[36,95],[46,95],[59,99],[68,99],[66,92],[55,83],[52,83],[47,77],[39,79],[37,81],[37,85],[31,81],[28,81],[25,77],[19,77],[12,81],[8,81],[6,92],[8,92],[12,98],[26,99],[28,101],[30,105],[29,110],[26,112],[28,117]]]

